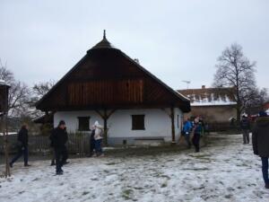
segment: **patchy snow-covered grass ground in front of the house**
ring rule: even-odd
[[[18,162],[12,178],[0,179],[0,201],[268,202],[251,145],[242,145],[241,136],[209,139],[199,154],[71,159],[62,176],[54,176],[49,161],[30,168]]]

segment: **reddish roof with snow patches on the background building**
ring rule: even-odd
[[[191,101],[191,106],[224,106],[236,105],[232,88],[205,88],[185,89],[178,92],[187,96]]]

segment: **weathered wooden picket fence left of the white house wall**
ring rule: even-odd
[[[9,152],[16,153],[17,135],[7,136]],[[89,154],[90,134],[68,134],[67,150],[69,154]],[[50,140],[48,136],[29,136],[30,154],[49,154]],[[0,136],[0,154],[4,154],[4,136]]]

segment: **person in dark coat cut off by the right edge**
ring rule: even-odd
[[[262,159],[262,171],[265,180],[265,188],[269,189],[268,157],[269,157],[269,117],[264,111],[259,113],[253,129],[252,144],[254,154]]]

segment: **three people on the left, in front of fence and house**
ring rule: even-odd
[[[96,156],[103,156],[102,151],[102,136],[103,127],[98,121],[95,121],[91,127],[91,138],[90,138],[90,156],[95,152]],[[52,161],[51,165],[56,165],[56,175],[62,175],[64,173],[62,167],[66,163],[68,158],[68,152],[66,144],[68,136],[66,132],[65,121],[60,120],[57,127],[55,127],[51,135],[49,136],[50,146],[52,148]],[[18,153],[13,157],[12,161],[9,162],[10,167],[13,167],[13,163],[16,162],[22,155],[24,157],[24,166],[30,166],[28,163],[28,126],[22,125],[21,130],[18,133],[17,141]]]

